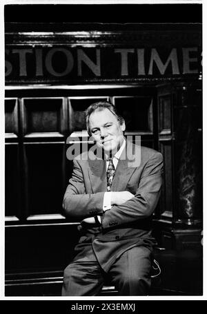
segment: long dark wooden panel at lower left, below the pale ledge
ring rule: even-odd
[[[30,278],[33,273],[63,271],[79,240],[77,224],[28,224],[6,227],[8,278]],[[11,275],[13,274],[13,275]]]

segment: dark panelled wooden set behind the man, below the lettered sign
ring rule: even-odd
[[[13,30],[9,36],[17,45]],[[61,207],[72,171],[66,140],[86,130],[84,110],[102,99],[126,118],[126,136],[140,135],[142,145],[164,155],[164,186],[154,215],[159,247],[197,247],[202,229],[199,76],[55,88],[50,82],[14,82],[5,96],[7,295],[59,291],[79,238],[78,222],[65,218]]]

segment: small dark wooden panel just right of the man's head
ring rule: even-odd
[[[127,131],[152,133],[152,97],[116,96],[113,102],[126,121]]]

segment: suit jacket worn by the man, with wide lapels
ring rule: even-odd
[[[132,162],[135,148],[126,142],[127,154],[126,150],[121,154],[111,186],[111,191],[130,191],[134,198],[103,213],[106,160],[88,158],[88,152],[73,160],[72,178],[63,198],[66,216],[82,220],[101,215],[101,227],[90,224],[83,227],[76,251],[79,258],[92,243],[105,271],[131,247],[144,244],[150,248],[155,243],[150,222],[161,192],[163,158],[158,151],[141,147],[140,164],[135,165]]]

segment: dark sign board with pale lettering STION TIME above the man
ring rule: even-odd
[[[6,81],[136,79],[199,74],[198,47],[171,48],[7,48]]]

